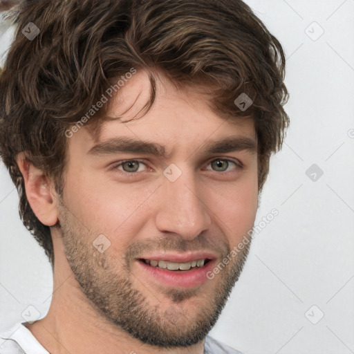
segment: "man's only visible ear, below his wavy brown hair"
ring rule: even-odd
[[[26,159],[23,152],[16,157],[17,165],[24,178],[26,196],[35,216],[41,223],[53,226],[58,221],[57,194],[53,181],[48,180],[44,173]]]

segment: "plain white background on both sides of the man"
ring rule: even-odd
[[[210,335],[248,354],[354,353],[354,1],[246,2],[286,52],[291,122],[255,225],[274,207],[279,215],[254,236]],[[3,51],[8,36],[0,41]],[[324,172],[316,181],[306,175],[313,164]],[[46,315],[53,280],[3,166],[0,182],[3,330],[24,322],[30,304]]]

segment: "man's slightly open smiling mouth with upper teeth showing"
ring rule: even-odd
[[[207,272],[214,268],[216,259],[194,259],[188,262],[171,262],[163,259],[137,259],[142,279],[151,279],[164,286],[193,288],[203,285]]]

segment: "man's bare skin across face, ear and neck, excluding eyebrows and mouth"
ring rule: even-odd
[[[111,99],[109,115],[124,115],[105,122],[99,140],[158,142],[166,159],[93,156],[88,151],[95,142],[82,127],[69,139],[60,198],[53,181],[21,154],[17,158],[28,201],[53,237],[52,302],[46,317],[26,325],[50,353],[203,353],[204,337],[241,273],[248,247],[214,279],[187,289],[166,286],[136,261],[148,252],[197,250],[221,261],[252,229],[258,207],[257,152],[209,154],[204,147],[208,139],[231,135],[256,142],[252,120],[225,120],[205,96],[178,89],[161,75],[151,110],[129,121],[148,94],[148,77],[139,71]],[[216,158],[229,163],[216,165]],[[142,160],[137,176],[127,176],[134,165],[111,169],[134,159]],[[162,173],[171,163],[182,172],[173,183]],[[60,227],[54,227],[57,221]],[[110,242],[104,252],[93,247],[101,234]]]

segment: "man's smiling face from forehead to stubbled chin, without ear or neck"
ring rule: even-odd
[[[219,117],[205,97],[165,79],[151,110],[128,122],[149,98],[147,75],[136,73],[119,93],[109,115],[132,108],[104,123],[98,143],[131,138],[162,145],[166,156],[118,145],[91,150],[96,143],[85,127],[69,139],[59,207],[66,259],[98,316],[145,343],[196,344],[239,278],[248,247],[230,252],[254,225],[258,202],[257,150],[224,144],[213,152],[210,144],[246,138],[257,146],[254,124]],[[201,259],[209,261],[174,270]]]

